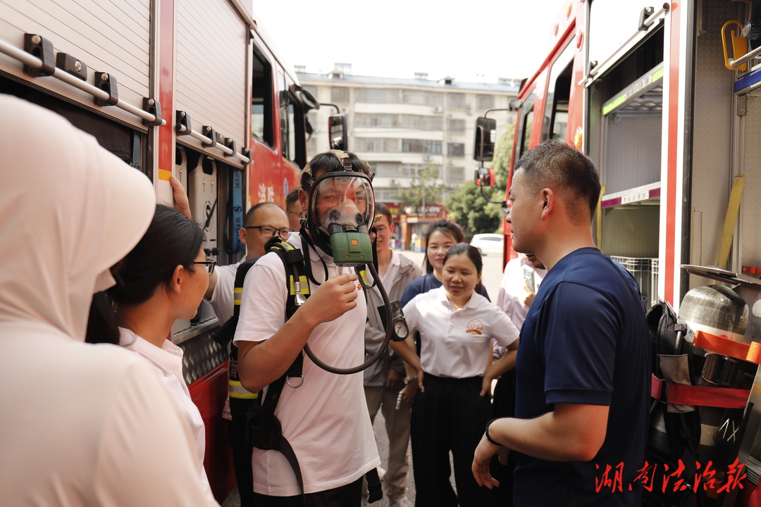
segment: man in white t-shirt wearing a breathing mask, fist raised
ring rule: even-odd
[[[246,276],[234,344],[239,347],[240,381],[248,391],[268,388],[281,378],[307,341],[315,355],[331,366],[350,368],[364,360],[365,296],[353,268],[336,266],[327,253],[330,239],[325,241],[329,212],[339,204],[348,205],[346,189],[330,189],[323,186],[323,182],[330,185],[330,177],[320,179],[325,173],[344,171],[339,157],[349,158],[352,166],[352,172],[344,174],[369,174],[368,166],[352,154],[316,155],[304,168],[299,192],[301,209],[310,210],[308,231],[288,238],[305,257],[304,242],[313,243],[307,261],[310,297],[285,320],[288,285],[283,262],[275,253],[261,258]],[[369,182],[366,188],[371,192]],[[352,195],[352,216],[371,214],[367,193]],[[302,372],[302,379],[282,388],[275,416],[298,458],[306,505],[359,505],[362,477],[380,464],[362,375],[335,375],[309,359],[304,359]],[[262,507],[304,505],[295,472],[279,451],[254,449],[253,490],[256,505]]]

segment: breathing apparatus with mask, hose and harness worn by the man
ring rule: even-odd
[[[327,365],[314,355],[308,343],[304,345],[304,353],[317,366],[328,372],[348,375],[361,372],[380,359],[386,352],[391,339],[403,341],[407,335],[407,325],[399,303],[389,301],[374,265],[374,245],[369,235],[374,220],[372,178],[353,170],[351,159],[345,152],[331,151],[331,153],[342,164],[342,170],[323,173],[317,179],[310,181],[309,211],[306,220],[301,223],[299,233],[304,252],[276,236],[266,243],[265,249],[268,253],[274,252],[279,255],[285,267],[288,287],[285,304],[286,321],[310,296],[310,281],[312,284],[320,285],[312,274],[310,248],[316,250],[319,248],[326,254],[332,255],[336,265],[354,267],[358,280],[365,290],[371,288],[368,287],[367,276],[367,272],[370,271],[374,284],[377,284],[384,301],[384,307],[378,309],[379,312],[385,313],[385,315],[381,313],[381,317],[385,316],[383,321],[386,324],[386,337],[380,349],[364,364],[341,369]],[[309,165],[304,168],[304,173],[311,175]],[[256,260],[245,261],[237,269],[234,315],[215,334],[215,340],[220,344],[227,345],[234,337],[240,316],[240,296],[243,293],[244,279]],[[327,280],[328,271],[324,261],[323,267],[325,268],[324,280]],[[291,388],[298,388],[304,382],[302,375],[304,356],[302,353],[296,356],[288,371],[269,385],[264,397],[262,391],[250,393],[240,384],[237,360],[237,347],[232,344],[229,363],[231,413],[233,417],[236,417],[236,414],[237,417],[245,414],[246,440],[252,450],[253,447],[262,450],[277,450],[285,456],[294,471],[303,499],[304,482],[298,458],[288,440],[282,435],[282,426],[275,417],[275,408],[286,383]],[[297,378],[300,379],[298,384],[292,384],[291,379]],[[368,472],[367,479],[370,490],[369,502],[376,502],[383,497],[377,470]]]

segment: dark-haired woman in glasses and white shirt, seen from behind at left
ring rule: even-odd
[[[93,297],[86,341],[119,344],[155,367],[186,417],[208,484],[205,426],[183,377],[183,350],[167,340],[177,318],[196,315],[209,287],[215,261],[205,258],[202,246],[197,223],[158,204],[145,235],[113,268],[116,285]]]

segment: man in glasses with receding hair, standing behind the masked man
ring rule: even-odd
[[[288,216],[282,208],[274,202],[256,204],[246,214],[244,227],[238,230],[240,241],[246,245],[245,260],[263,256],[264,245],[272,236],[279,236],[285,241],[290,232]],[[209,290],[206,290],[204,301],[212,305],[220,323],[227,322],[233,316],[235,274],[240,262],[228,266],[217,266],[209,277]],[[222,417],[232,420],[229,398],[224,403]],[[233,451],[235,477],[240,491],[240,505],[253,505],[251,453],[245,445],[243,431],[233,424],[230,426],[228,436]]]

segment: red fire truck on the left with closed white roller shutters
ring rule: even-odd
[[[94,135],[153,180],[158,201],[171,202],[170,176],[180,178],[207,255],[220,264],[244,255],[235,243],[244,212],[260,201],[285,205],[298,186],[306,114],[319,103],[279,58],[250,2],[0,0],[0,13],[0,93]],[[203,303],[171,339],[184,350],[206,426],[205,468],[224,499],[234,475],[221,420],[227,352],[211,338],[219,325]]]

